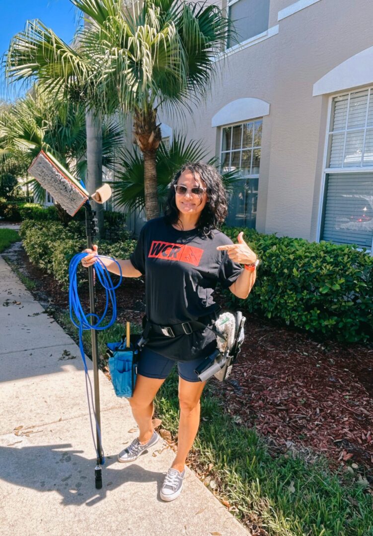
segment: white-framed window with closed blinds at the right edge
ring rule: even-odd
[[[373,88],[332,99],[321,238],[372,248]]]

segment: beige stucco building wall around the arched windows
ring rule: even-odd
[[[312,96],[313,85],[373,45],[373,4],[319,0],[278,21],[279,11],[292,4],[270,2],[269,27],[278,25],[278,33],[219,61],[221,75],[208,101],[192,106],[186,122],[166,115],[159,115],[159,121],[185,132],[187,140],[202,139],[212,157],[220,154],[221,127],[211,127],[211,118],[221,108],[247,97],[268,102],[256,227],[313,241],[318,235],[328,121],[328,95]]]

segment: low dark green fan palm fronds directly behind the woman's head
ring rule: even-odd
[[[175,133],[170,147],[160,143],[156,154],[157,195],[160,210],[163,211],[165,208],[169,184],[174,174],[186,162],[204,160],[207,154],[208,151],[200,140],[191,140],[186,145],[185,138],[180,133]],[[111,182],[115,205],[123,207],[129,213],[135,210],[141,211],[145,209],[144,158],[138,151],[133,153],[126,148],[122,148],[117,158],[119,168],[122,170],[115,173],[115,180]],[[218,167],[216,158],[209,159],[208,163]],[[236,170],[222,173],[222,178],[226,192],[234,196],[234,184],[242,180],[240,173]]]

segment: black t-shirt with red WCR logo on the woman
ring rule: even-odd
[[[164,216],[149,220],[129,258],[146,276],[145,303],[150,321],[163,326],[179,324],[214,311],[217,283],[228,288],[243,271],[227,251],[216,249],[232,243],[218,229],[208,238],[201,237],[196,229],[175,229]],[[189,361],[214,351],[216,337],[206,328],[175,338],[151,337],[147,346],[171,359]]]

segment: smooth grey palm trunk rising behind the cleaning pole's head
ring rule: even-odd
[[[92,195],[103,184],[103,117],[87,110],[85,114],[87,134],[87,181],[86,188]],[[104,207],[91,201],[96,211],[100,237],[104,236]]]

